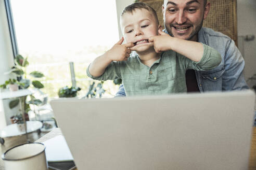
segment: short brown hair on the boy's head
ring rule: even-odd
[[[152,7],[150,7],[149,5],[142,3],[142,2],[136,2],[133,3],[131,5],[128,5],[124,8],[124,10],[121,13],[121,16],[124,15],[124,13],[133,13],[133,11],[135,11],[136,9],[146,9],[148,10],[150,13],[153,14],[153,16],[155,17],[157,24],[159,24],[158,18],[157,18],[157,12],[155,11],[155,9],[153,9]]]

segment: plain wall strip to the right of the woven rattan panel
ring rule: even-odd
[[[253,74],[256,74],[256,40],[243,40],[246,35],[256,36],[256,1],[255,0],[237,0],[237,28],[238,28],[238,47],[244,53],[246,62],[245,78],[246,80]],[[242,47],[244,46],[244,48]],[[252,87],[256,81],[249,81]]]

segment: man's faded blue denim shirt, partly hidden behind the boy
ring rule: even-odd
[[[243,73],[245,60],[231,38],[202,27],[198,33],[198,42],[214,48],[222,57],[219,66],[207,71],[195,71],[200,92],[249,89]],[[125,96],[122,84],[116,96]]]

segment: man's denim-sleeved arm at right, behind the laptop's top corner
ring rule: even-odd
[[[224,59],[225,72],[222,76],[222,90],[249,89],[243,73],[245,60],[242,58],[242,55],[233,40],[231,40],[231,43],[228,45]]]

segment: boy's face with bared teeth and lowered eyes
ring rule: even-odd
[[[121,29],[126,43],[134,43],[131,50],[143,52],[153,49],[153,43],[148,38],[158,35],[158,24],[155,17],[146,9],[135,9],[133,13],[126,12],[121,16]]]

